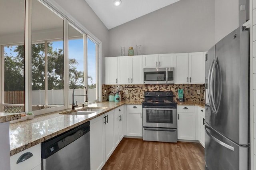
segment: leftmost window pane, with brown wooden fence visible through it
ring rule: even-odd
[[[24,112],[24,0],[1,0],[1,112]],[[12,10],[10,10],[12,9]],[[11,22],[10,22],[11,21]]]

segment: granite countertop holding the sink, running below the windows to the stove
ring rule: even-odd
[[[71,109],[35,116],[34,119],[10,124],[10,156],[42,143],[58,134],[82,125],[121,105],[140,105],[142,101],[101,102],[86,107],[103,107],[100,112],[90,115],[65,115],[59,113],[72,112]],[[86,108],[85,107],[85,108]],[[73,111],[85,109],[76,108]],[[20,115],[20,114],[18,114]]]

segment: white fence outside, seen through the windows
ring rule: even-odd
[[[44,90],[32,90],[32,105],[45,105]],[[48,105],[64,105],[64,90],[48,90]],[[73,89],[69,89],[69,103],[72,103]],[[96,88],[87,89],[88,101],[96,100]],[[84,89],[75,89],[74,95],[85,95]],[[84,96],[75,96],[74,102],[83,103]]]

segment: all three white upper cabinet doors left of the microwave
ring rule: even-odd
[[[105,84],[143,84],[142,55],[105,57]]]

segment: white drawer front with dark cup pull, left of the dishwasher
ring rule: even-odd
[[[24,154],[24,155],[23,155]],[[31,157],[29,157],[31,156]],[[16,163],[19,158],[28,157],[23,162]],[[11,170],[37,170],[41,166],[41,144],[23,150],[10,157]]]

